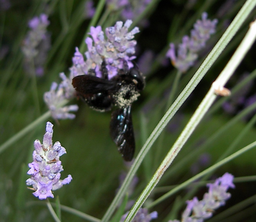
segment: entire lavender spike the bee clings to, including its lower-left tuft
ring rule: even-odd
[[[129,68],[133,67],[132,60],[136,58],[134,34],[139,32],[138,27],[134,27],[128,31],[132,24],[132,20],[127,20],[124,24],[122,21],[117,21],[112,27],[107,27],[105,35],[101,26],[91,27],[90,35],[85,43],[88,50],[84,53],[86,60],[79,48],[76,47],[74,57],[72,58],[73,65],[70,68],[70,75],[67,77],[64,73],[60,73],[61,83],[53,83],[50,91],[44,93],[44,102],[51,111],[51,116],[54,119],[73,119],[74,114],[70,111],[77,111],[77,105],[63,105],[76,96],[76,91],[72,85],[72,79],[77,75],[88,74],[88,71],[93,69],[97,77],[102,77],[100,67],[105,59],[109,78],[114,77],[119,69],[124,68],[124,63],[127,63]]]

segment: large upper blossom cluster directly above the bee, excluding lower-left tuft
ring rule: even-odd
[[[101,26],[91,27],[89,33],[91,38],[87,37],[85,40],[88,48],[88,51],[84,53],[86,60],[76,47],[72,59],[73,66],[70,68],[72,76],[88,74],[88,71],[93,69],[97,77],[102,77],[100,67],[103,58],[106,61],[109,79],[114,77],[118,70],[124,68],[124,63],[132,68],[132,60],[136,58],[133,55],[134,47],[137,43],[133,38],[139,32],[139,28],[134,27],[128,31],[131,24],[132,20],[127,20],[125,23],[117,21],[113,27],[106,28],[106,38]]]

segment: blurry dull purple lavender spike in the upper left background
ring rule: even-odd
[[[43,65],[46,61],[47,52],[50,49],[50,34],[47,32],[47,27],[50,21],[46,14],[41,14],[39,17],[34,17],[29,21],[29,32],[23,40],[21,47],[25,56],[24,67],[29,74],[43,75]]]

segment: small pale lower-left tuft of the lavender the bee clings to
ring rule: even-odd
[[[52,83],[50,91],[44,93],[44,102],[47,104],[49,110],[51,111],[51,116],[55,120],[73,119],[76,117],[76,115],[69,112],[77,111],[78,106],[67,105],[63,107],[63,104],[65,101],[72,98],[72,92],[74,97],[74,88],[64,73],[61,73],[60,76],[63,78],[63,81],[59,84],[59,86],[55,82]]]

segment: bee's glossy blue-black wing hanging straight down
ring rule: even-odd
[[[110,134],[125,161],[131,161],[135,151],[131,106],[112,112]]]

